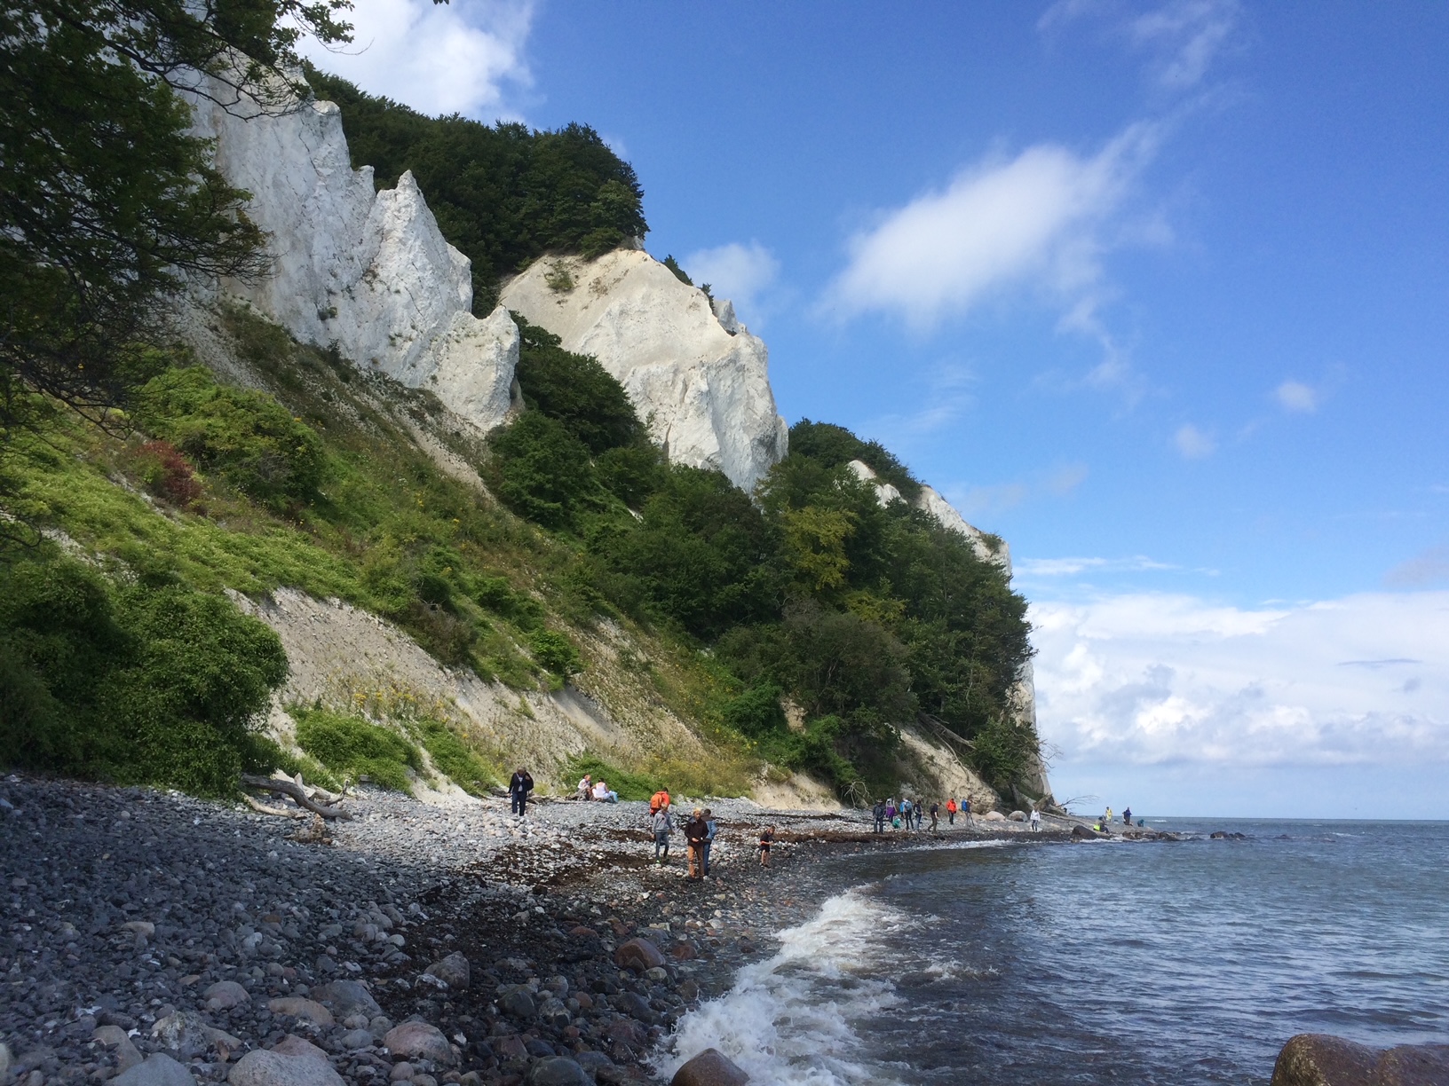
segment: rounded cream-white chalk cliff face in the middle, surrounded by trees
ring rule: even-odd
[[[504,287],[503,304],[597,358],[672,462],[719,468],[748,491],[784,459],[765,345],[727,301],[711,307],[648,253],[545,258]]]

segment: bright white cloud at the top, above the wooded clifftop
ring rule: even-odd
[[[355,0],[351,45],[301,52],[323,71],[422,113],[513,116],[504,87],[532,83],[523,46],[532,0]]]

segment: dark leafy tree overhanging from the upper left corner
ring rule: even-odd
[[[246,193],[188,135],[197,72],[275,103],[346,0],[28,0],[0,9],[0,442],[48,397],[100,417],[155,372],[185,281],[262,272]],[[238,55],[249,62],[238,64]]]

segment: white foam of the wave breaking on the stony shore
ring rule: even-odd
[[[656,1060],[668,1079],[719,1048],[752,1082],[781,1086],[887,1086],[888,1069],[859,1057],[851,1024],[895,1003],[881,979],[878,937],[900,921],[861,891],[830,898],[810,921],[780,933],[780,951],[742,969],[735,986],[685,1015]]]

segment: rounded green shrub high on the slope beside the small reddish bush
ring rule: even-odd
[[[316,498],[322,442],[272,397],[217,385],[201,366],[170,369],[138,392],[135,418],[203,471],[268,508]]]

